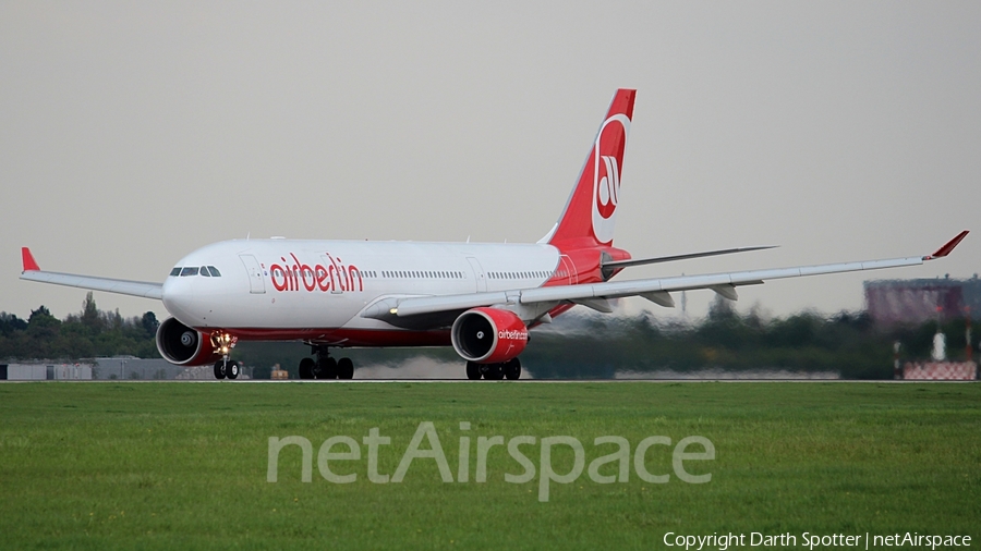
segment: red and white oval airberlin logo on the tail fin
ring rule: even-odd
[[[615,114],[603,122],[593,148],[593,234],[600,243],[613,241],[620,199],[620,164],[629,132],[630,119]]]

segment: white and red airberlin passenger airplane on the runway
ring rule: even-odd
[[[613,281],[634,266],[770,248],[634,259],[613,245],[635,93],[614,94],[561,216],[537,243],[233,240],[189,254],[162,283],[44,271],[23,247],[21,279],[162,301],[172,317],[157,330],[160,355],[214,364],[217,379],[238,378],[231,350],[255,340],[310,345],[302,379],[353,378],[351,359],[331,348],[452,345],[468,379],[501,380],[521,377],[529,329],[576,305],[610,313],[610,299],[641,296],[673,307],[670,293],[700,289],[735,301],[736,287],[768,280],[921,265],[968,234],[925,256]]]

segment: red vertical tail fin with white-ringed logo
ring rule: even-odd
[[[545,240],[560,248],[613,244],[623,151],[637,90],[618,89],[590,148],[566,210]]]

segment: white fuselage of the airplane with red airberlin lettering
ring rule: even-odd
[[[359,315],[379,298],[533,289],[556,276],[574,282],[562,265],[546,244],[237,240],[182,258],[162,298],[174,318],[205,331],[329,339],[326,330],[397,330]]]

